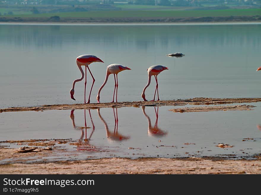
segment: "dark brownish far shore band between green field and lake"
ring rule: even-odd
[[[228,17],[142,17],[142,18],[22,18],[0,16],[0,23],[205,23],[205,22],[261,22],[261,15]]]

